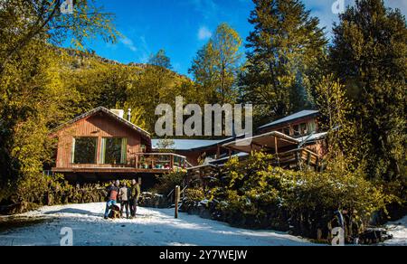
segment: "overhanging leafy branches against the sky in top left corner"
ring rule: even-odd
[[[118,32],[113,26],[113,15],[103,13],[94,0],[74,1],[73,14],[62,14],[62,0],[3,1],[0,10],[0,74],[20,52],[30,48],[33,41],[47,40],[61,44],[71,43],[83,49],[84,43],[95,36],[116,42]]]

